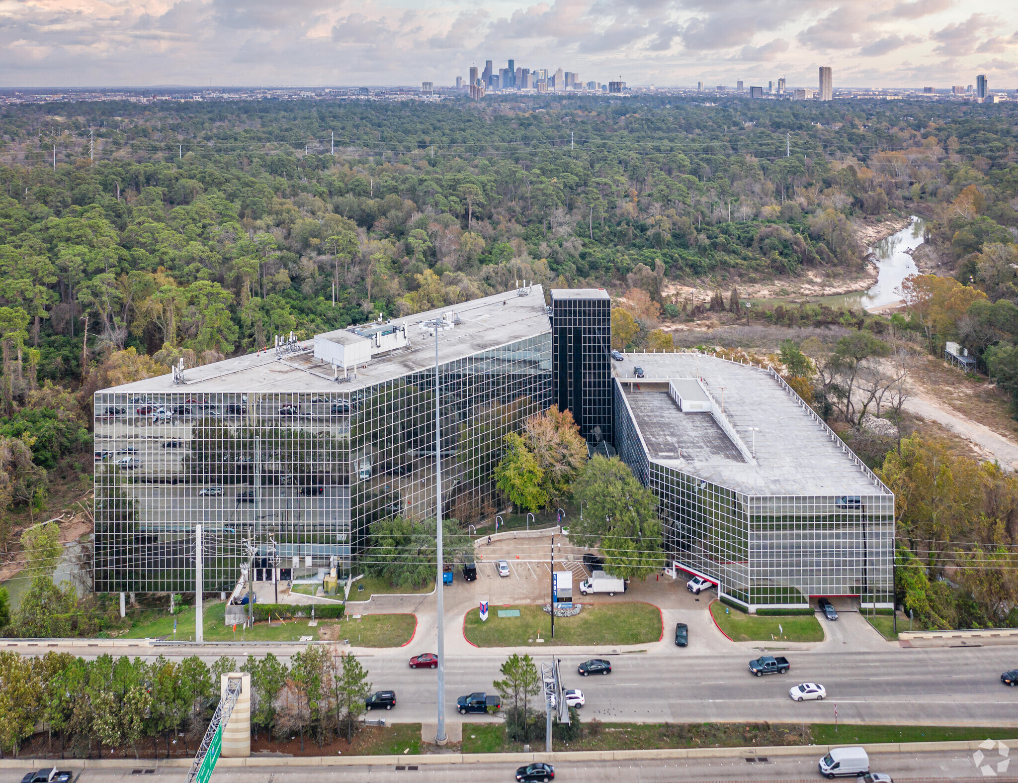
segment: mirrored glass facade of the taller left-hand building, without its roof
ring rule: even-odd
[[[441,365],[439,381],[444,511],[476,521],[497,510],[504,436],[552,404],[551,333]],[[434,516],[434,368],[343,386],[97,393],[96,590],[192,591],[199,523],[205,590],[228,592],[249,557],[283,578],[342,570],[372,521]]]

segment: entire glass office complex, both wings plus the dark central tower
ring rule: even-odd
[[[96,589],[193,590],[195,524],[210,592],[252,554],[356,569],[373,521],[435,515],[437,448],[444,514],[490,517],[505,435],[558,404],[658,495],[669,566],[750,607],[890,606],[894,497],[780,379],[700,354],[619,366],[605,291],[548,301],[532,285],[97,392]]]

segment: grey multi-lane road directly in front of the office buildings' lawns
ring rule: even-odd
[[[101,640],[98,640],[101,644]],[[171,646],[157,648],[18,647],[23,653],[64,650],[89,657],[110,652],[179,658],[199,654],[212,661],[221,655],[242,660],[245,654],[273,652],[281,658],[294,646]],[[648,646],[658,647],[658,646]],[[422,652],[422,651],[420,651]],[[528,652],[542,659],[542,652]],[[607,652],[607,651],[606,651]],[[390,722],[434,720],[437,672],[411,670],[406,650],[358,651],[375,688],[393,688],[398,707],[386,712]],[[499,667],[508,651],[471,650],[447,655],[446,709],[455,714],[456,696],[473,690],[491,690],[501,677]],[[940,724],[1018,727],[1018,688],[1000,681],[1000,673],[1018,667],[1018,648],[931,648],[886,652],[825,653],[786,652],[792,671],[785,675],[753,677],[746,670],[750,652],[712,652],[684,655],[662,646],[658,651],[605,657],[612,661],[607,676],[581,677],[576,664],[591,657],[559,649],[567,687],[582,688],[584,720],[602,721],[774,721],[844,723]],[[546,656],[547,657],[547,656]],[[821,682],[827,687],[824,702],[792,702],[788,689],[797,682]],[[487,718],[498,720],[497,718]],[[486,716],[468,716],[470,721]]]

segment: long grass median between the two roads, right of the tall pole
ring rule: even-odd
[[[969,739],[1011,739],[1018,729],[941,726],[874,726],[842,723],[835,731],[827,723],[602,723],[582,716],[578,731],[560,735],[556,724],[554,750],[641,750],[687,747],[776,747],[846,742],[944,742]],[[544,728],[534,729],[530,743],[544,748]],[[498,723],[463,724],[464,753],[518,752]],[[817,758],[821,753],[817,753]]]

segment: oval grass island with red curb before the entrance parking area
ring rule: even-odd
[[[519,617],[499,617],[500,609],[518,609]],[[477,647],[541,647],[551,640],[552,618],[540,606],[492,605],[488,621],[478,610],[466,613],[466,638]],[[555,645],[643,645],[661,638],[661,612],[651,604],[584,604],[576,617],[555,618]]]

